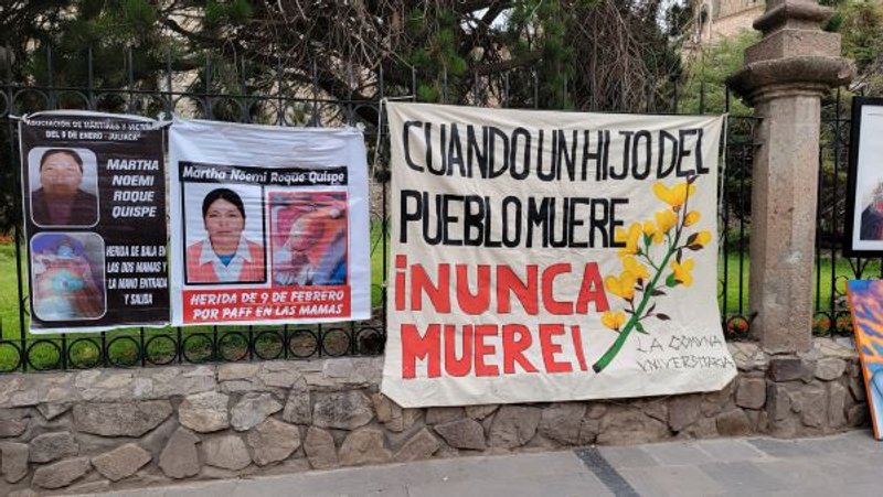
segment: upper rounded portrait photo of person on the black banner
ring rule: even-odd
[[[91,227],[98,223],[95,153],[38,147],[28,154],[31,219],[41,227]]]

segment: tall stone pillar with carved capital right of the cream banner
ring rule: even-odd
[[[811,346],[812,268],[820,101],[854,75],[841,58],[831,15],[815,0],[768,0],[754,22],[764,37],[727,84],[755,108],[751,312],[754,335],[774,353]]]

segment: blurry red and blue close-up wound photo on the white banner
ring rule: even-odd
[[[347,194],[270,192],[273,284],[344,284],[347,278]]]

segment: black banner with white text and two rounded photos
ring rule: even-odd
[[[86,111],[21,120],[32,333],[168,324],[163,132]]]

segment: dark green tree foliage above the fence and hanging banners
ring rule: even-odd
[[[289,123],[358,120],[371,131],[376,102],[390,95],[511,107],[668,108],[681,73],[671,34],[684,19],[677,2],[668,3],[17,0],[0,6],[0,46],[14,61],[13,80],[123,89],[86,96],[102,110],[155,116],[163,102],[136,91],[168,90],[171,82],[175,90],[203,95],[273,97],[204,97],[195,111],[214,119],[283,114]],[[84,95],[54,96],[58,107],[84,107]],[[25,95],[15,104],[26,112],[46,102]]]

